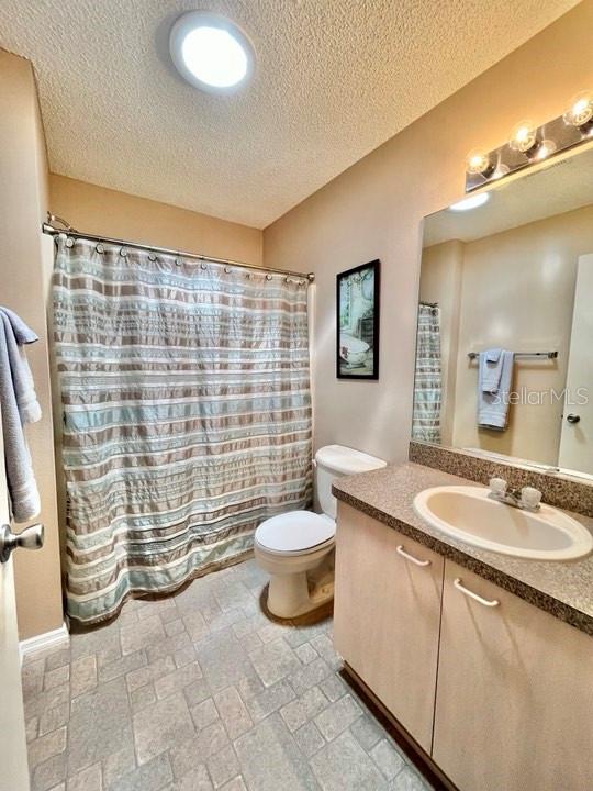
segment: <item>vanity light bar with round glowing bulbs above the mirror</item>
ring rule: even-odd
[[[466,192],[588,142],[593,142],[593,90],[573,97],[562,115],[541,126],[521,121],[511,131],[508,143],[499,148],[470,152]]]

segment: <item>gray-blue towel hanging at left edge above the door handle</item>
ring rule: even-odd
[[[16,314],[0,308],[0,409],[11,516],[26,522],[41,510],[23,425],[41,417],[33,377],[21,348],[37,336]]]

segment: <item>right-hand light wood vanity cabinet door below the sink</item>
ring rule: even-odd
[[[591,789],[593,637],[450,560],[440,635],[433,758],[457,787]]]

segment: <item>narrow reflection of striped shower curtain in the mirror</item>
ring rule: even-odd
[[[412,438],[440,442],[440,311],[418,305]]]

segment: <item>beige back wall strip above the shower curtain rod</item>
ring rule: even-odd
[[[261,264],[258,229],[54,174],[49,188],[51,211],[80,231]]]

